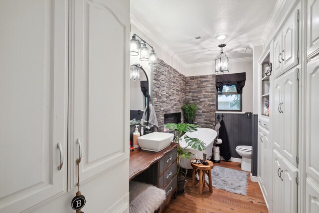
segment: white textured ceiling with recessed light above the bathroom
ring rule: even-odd
[[[252,56],[276,0],[131,0],[131,13],[185,64]],[[226,34],[224,40],[215,37]],[[201,36],[198,40],[189,37]],[[261,44],[261,43],[260,43]],[[244,53],[247,48],[246,53]]]

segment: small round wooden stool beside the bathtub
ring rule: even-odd
[[[194,188],[195,185],[195,173],[196,173],[196,169],[199,172],[199,195],[202,194],[203,191],[203,187],[205,186],[205,183],[207,184],[207,186],[209,187],[209,192],[213,192],[213,183],[211,180],[211,169],[213,168],[213,162],[207,160],[208,165],[205,166],[203,164],[195,164],[192,162],[193,160],[191,160],[191,166],[193,167],[193,177],[191,179],[191,188]],[[208,182],[205,180],[205,174],[207,174],[208,176]]]

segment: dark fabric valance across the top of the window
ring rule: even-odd
[[[216,75],[216,89],[221,92],[223,86],[235,85],[237,93],[240,94],[243,91],[246,81],[246,73],[234,73],[234,74],[223,74]]]

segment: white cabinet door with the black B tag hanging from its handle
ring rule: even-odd
[[[119,1],[72,0],[68,188],[129,158],[130,20]],[[116,175],[116,174],[114,174]],[[107,181],[107,180],[106,180]]]

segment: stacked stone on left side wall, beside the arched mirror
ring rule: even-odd
[[[153,71],[153,86],[153,106],[161,132],[164,113],[181,112],[181,106],[185,103],[186,77],[159,60]],[[184,120],[183,115],[181,120]]]

